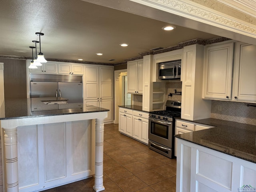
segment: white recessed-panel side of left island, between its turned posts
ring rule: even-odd
[[[19,126],[19,192],[41,191],[94,174],[94,132],[92,120]]]

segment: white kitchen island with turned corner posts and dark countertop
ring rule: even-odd
[[[94,190],[104,190],[103,120],[108,110],[38,102],[41,110],[32,109],[33,99],[5,100],[1,106],[4,190],[42,191],[93,174]],[[49,109],[53,106],[58,107]]]

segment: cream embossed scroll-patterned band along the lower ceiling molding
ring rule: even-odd
[[[144,0],[144,2],[154,3],[169,10],[174,10],[176,12],[194,16],[208,22],[214,22],[221,26],[226,26],[241,32],[256,35],[256,27],[250,26],[249,23],[244,24],[242,21],[238,21],[236,18],[232,19],[230,16],[227,17],[225,14],[210,12],[205,8],[196,6],[198,4],[193,4],[191,1],[184,2],[182,0]]]

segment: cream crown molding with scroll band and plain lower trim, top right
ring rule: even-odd
[[[188,19],[256,38],[256,26],[189,0],[130,0]]]

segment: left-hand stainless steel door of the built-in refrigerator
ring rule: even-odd
[[[58,82],[30,82],[31,98],[36,97],[56,97]]]

